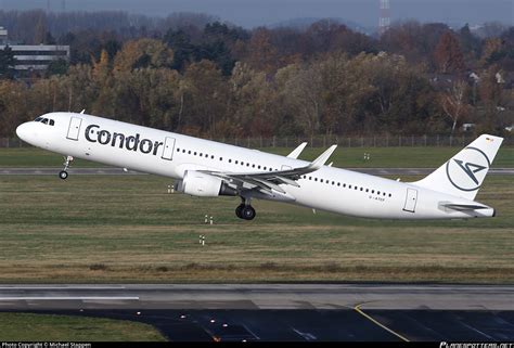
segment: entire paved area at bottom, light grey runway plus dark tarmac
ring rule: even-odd
[[[512,285],[1,285],[0,310],[141,321],[170,340],[514,339]]]

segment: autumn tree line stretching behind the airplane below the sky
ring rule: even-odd
[[[37,115],[81,109],[215,138],[450,134],[463,123],[504,133],[514,121],[512,27],[477,35],[408,22],[373,37],[333,21],[246,30],[182,15],[146,27],[105,13],[97,21],[106,26],[121,20],[51,30],[38,15],[30,43],[70,44],[72,61],[21,78],[0,51],[0,137]]]

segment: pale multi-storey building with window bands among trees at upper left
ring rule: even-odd
[[[0,27],[0,50],[9,44],[16,59],[17,72],[46,70],[53,61],[69,62],[69,46],[59,44],[10,44],[8,30]]]

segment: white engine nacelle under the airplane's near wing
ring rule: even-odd
[[[192,196],[236,196],[237,191],[220,178],[196,170],[187,170],[182,180],[177,180],[175,190]]]

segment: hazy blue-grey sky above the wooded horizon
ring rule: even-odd
[[[0,0],[4,10],[121,10],[152,16],[198,12],[252,28],[303,17],[338,17],[376,26],[380,0]],[[514,25],[514,0],[390,0],[391,21],[417,20],[470,25],[501,22]]]

